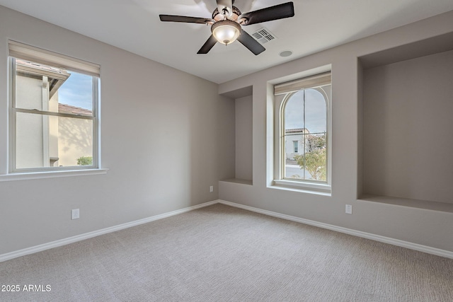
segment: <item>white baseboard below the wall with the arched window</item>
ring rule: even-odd
[[[245,206],[243,204],[236,204],[234,202],[226,202],[225,200],[219,200],[219,203],[220,204],[226,204],[226,205],[231,206],[231,207],[245,209],[245,210],[248,210],[248,211],[254,211],[256,213],[265,214],[265,215],[268,215],[268,216],[273,216],[273,217],[286,219],[286,220],[290,220],[290,221],[295,221],[295,222],[299,222],[299,223],[305,223],[305,224],[309,224],[310,226],[318,226],[319,228],[327,228],[328,230],[337,231],[337,232],[340,232],[340,233],[346,233],[346,234],[349,234],[349,235],[352,235],[352,236],[367,238],[367,239],[379,241],[379,242],[382,242],[382,243],[389,243],[391,245],[401,246],[402,248],[409,248],[411,250],[418,250],[419,252],[427,252],[428,254],[432,254],[432,255],[437,255],[437,256],[442,256],[442,257],[447,257],[447,258],[452,258],[453,259],[453,252],[451,252],[449,250],[441,250],[440,248],[431,248],[430,246],[426,246],[426,245],[420,245],[420,244],[411,243],[411,242],[408,242],[408,241],[398,240],[398,239],[389,238],[389,237],[385,237],[385,236],[374,235],[372,233],[366,233],[366,232],[362,232],[362,231],[355,231],[355,230],[352,230],[351,228],[343,228],[341,226],[333,226],[332,224],[328,224],[328,223],[312,221],[312,220],[309,220],[309,219],[303,219],[303,218],[299,218],[299,217],[296,217],[296,216],[289,216],[289,215],[280,214],[280,213],[277,213],[277,212],[274,212],[274,211],[267,211],[267,210],[263,210],[263,209],[258,209],[258,208],[255,208],[255,207],[248,207],[248,206]]]

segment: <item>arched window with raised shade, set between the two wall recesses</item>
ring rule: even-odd
[[[275,85],[275,183],[330,192],[331,73]]]

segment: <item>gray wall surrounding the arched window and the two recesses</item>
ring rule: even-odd
[[[219,182],[219,198],[453,251],[452,211],[437,211],[429,209],[429,206],[425,209],[402,206],[394,201],[360,199],[364,132],[362,66],[358,59],[367,54],[452,32],[453,11],[222,83],[219,93],[230,93],[253,86],[253,185]],[[329,64],[332,66],[332,194],[328,197],[276,189],[272,186],[274,139],[271,84],[297,79],[305,71]],[[450,83],[451,76],[450,69]],[[449,183],[452,183],[451,175],[449,177]],[[352,215],[345,214],[345,204],[352,204]]]

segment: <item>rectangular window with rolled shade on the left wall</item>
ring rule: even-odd
[[[99,168],[99,66],[9,41],[9,172]]]

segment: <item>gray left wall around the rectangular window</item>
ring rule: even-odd
[[[234,107],[217,84],[2,6],[0,174],[8,38],[101,64],[101,158],[109,171],[0,182],[0,255],[216,200],[217,180],[234,177],[234,156],[224,153],[234,145],[226,131],[234,120],[224,112]],[[70,219],[71,209],[80,209],[80,219]]]

